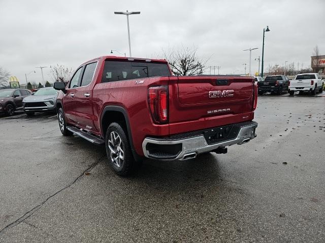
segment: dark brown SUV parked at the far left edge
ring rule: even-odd
[[[25,89],[0,90],[0,113],[13,115],[15,110],[22,109],[22,100],[31,95],[31,91]]]

